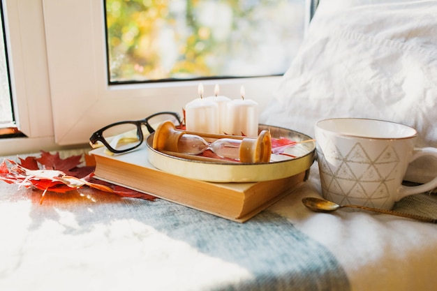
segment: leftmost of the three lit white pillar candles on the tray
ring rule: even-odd
[[[199,84],[199,95],[185,105],[186,130],[198,133],[218,133],[218,105],[210,98],[203,98],[203,85]]]

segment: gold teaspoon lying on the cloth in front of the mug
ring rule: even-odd
[[[316,212],[332,212],[332,211],[336,211],[337,209],[341,209],[343,207],[350,207],[350,208],[359,208],[359,209],[369,210],[369,211],[378,212],[378,213],[382,213],[382,214],[391,214],[391,215],[395,215],[395,216],[412,218],[412,219],[416,219],[417,221],[424,221],[427,223],[437,223],[437,219],[434,219],[434,218],[428,218],[428,217],[415,215],[415,214],[406,214],[406,213],[392,211],[392,210],[376,209],[376,208],[365,207],[365,206],[360,206],[360,205],[339,205],[339,204],[336,204],[334,202],[331,202],[328,200],[323,200],[323,199],[316,198],[316,197],[306,197],[306,198],[302,199],[302,203],[304,203],[304,205],[306,207],[308,207],[309,209],[311,209],[312,211],[316,211]]]

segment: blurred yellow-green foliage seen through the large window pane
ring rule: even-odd
[[[109,82],[282,75],[305,0],[105,0]]]

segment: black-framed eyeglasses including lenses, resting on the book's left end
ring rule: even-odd
[[[144,133],[154,133],[163,121],[171,121],[176,127],[182,124],[176,112],[158,112],[138,121],[119,121],[105,126],[89,137],[89,144],[93,148],[103,144],[114,154],[131,151],[142,144]],[[143,131],[145,128],[147,131]]]

